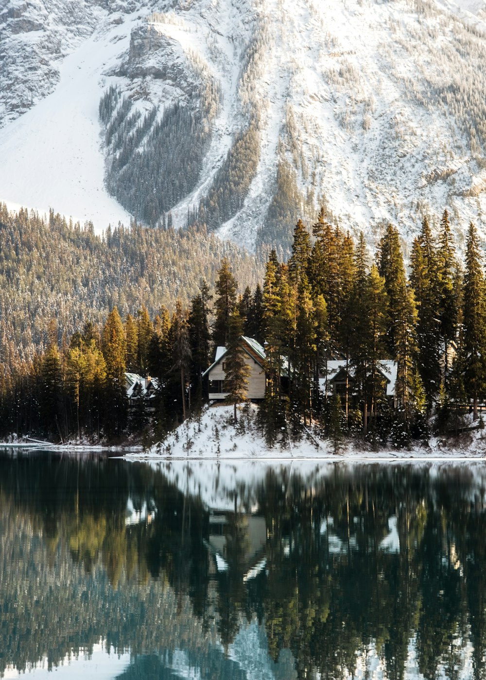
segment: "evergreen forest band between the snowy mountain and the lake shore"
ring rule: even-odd
[[[2,309],[12,306],[9,290],[12,299],[40,307],[36,286],[42,268],[61,252],[58,269],[48,271],[51,306],[44,303],[33,319],[32,309],[22,308],[30,333],[37,314],[42,315],[42,343],[35,347],[31,341],[17,350],[15,331],[17,337],[29,331],[17,325],[15,313],[2,318],[3,437],[29,433],[56,441],[83,436],[123,441],[143,433],[147,445],[161,442],[207,401],[201,374],[219,345],[228,348],[228,401],[235,405],[237,422],[236,404],[245,400],[248,384],[240,335],[265,344],[267,388],[256,425],[269,446],[299,439],[309,425],[329,437],[336,451],[346,437],[377,447],[408,447],[413,439],[425,441],[432,428],[457,435],[468,426],[464,415],[469,411],[482,425],[482,255],[471,223],[464,265],[459,261],[447,211],[437,230],[423,218],[407,273],[395,227],[387,226],[372,258],[362,234],[353,239],[332,226],[321,209],[310,229],[297,222],[287,262],[270,253],[260,281],[258,270],[250,271],[255,262],[250,256],[194,230],[133,225],[100,239],[53,214],[47,224],[25,211],[7,216],[4,210],[3,221],[9,226],[0,232],[6,282]],[[54,237],[58,250],[48,237]],[[44,252],[39,262],[32,258],[34,238],[37,252]],[[68,244],[77,250],[68,251]],[[223,256],[216,265],[216,254],[223,255],[224,248],[231,260]],[[198,260],[197,252],[206,259]],[[166,263],[176,254],[180,259],[171,269]],[[95,275],[99,269],[91,276],[84,269],[79,278],[83,267],[76,267],[77,257],[85,268],[97,262],[101,276]],[[163,267],[172,280],[161,277]],[[25,275],[19,281],[20,271]],[[181,271],[187,284],[177,279]],[[243,287],[242,281],[249,283]],[[76,299],[78,290],[82,296]],[[68,301],[69,316],[63,317],[59,311]],[[86,308],[88,301],[96,301],[96,314]],[[327,362],[335,359],[346,366],[346,384],[339,392],[323,389]],[[396,362],[393,401],[385,396],[385,360]],[[142,400],[129,408],[125,371],[157,378],[150,409]]]

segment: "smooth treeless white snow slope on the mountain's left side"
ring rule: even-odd
[[[101,16],[100,16],[101,20]],[[0,130],[0,201],[48,214],[50,207],[74,222],[129,225],[130,216],[104,186],[99,99],[102,73],[129,47],[135,16],[95,31],[60,66],[54,92]],[[108,82],[109,84],[109,82]]]

